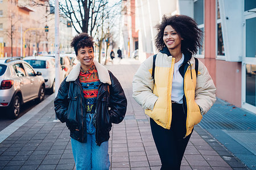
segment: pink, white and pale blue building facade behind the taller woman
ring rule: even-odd
[[[256,1],[136,0],[139,58],[156,53],[155,25],[162,16],[194,18],[204,32],[196,57],[208,68],[217,97],[256,114]]]

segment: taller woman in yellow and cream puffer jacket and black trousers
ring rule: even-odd
[[[195,20],[164,15],[156,28],[159,53],[135,73],[133,97],[150,117],[161,169],[180,169],[193,127],[216,101],[216,88],[205,65],[192,56],[202,35]]]

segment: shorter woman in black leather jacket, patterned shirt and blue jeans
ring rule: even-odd
[[[55,112],[70,130],[76,169],[109,169],[109,131],[125,117],[125,93],[112,72],[93,60],[92,36],[76,35],[71,47],[80,62],[61,83]]]

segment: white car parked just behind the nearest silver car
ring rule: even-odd
[[[41,72],[46,83],[46,89],[51,93],[55,92],[55,58],[46,56],[30,56],[24,57],[37,72]],[[65,78],[65,71],[60,67],[60,82]]]

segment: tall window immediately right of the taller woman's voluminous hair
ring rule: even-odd
[[[197,56],[204,57],[204,0],[194,0],[194,19],[197,27],[203,31],[202,47],[197,51]]]

